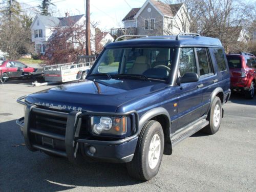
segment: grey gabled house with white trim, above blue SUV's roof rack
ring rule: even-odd
[[[124,28],[112,29],[113,35],[173,35],[189,32],[189,17],[185,4],[166,4],[147,0],[142,7],[133,8],[123,19]],[[119,33],[119,34],[118,34]]]

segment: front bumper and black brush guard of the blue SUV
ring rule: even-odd
[[[72,111],[63,113],[37,108],[35,105],[28,104],[24,101],[26,96],[17,99],[20,104],[26,105],[25,117],[16,121],[20,126],[20,131],[25,139],[25,144],[30,151],[44,151],[67,157],[71,162],[77,163],[83,157],[99,159],[114,163],[130,162],[133,159],[138,134],[139,134],[139,116],[136,111],[128,113],[101,113],[101,112],[79,112]],[[53,133],[35,128],[33,114],[42,117],[54,117],[53,120],[63,118],[67,119],[67,125],[64,134]],[[133,135],[119,140],[91,140],[81,137],[81,118],[88,115],[102,116],[129,116],[134,119]],[[35,140],[36,139],[36,140]],[[38,143],[37,141],[40,140]],[[90,151],[94,147],[95,152]]]

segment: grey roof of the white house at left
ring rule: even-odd
[[[83,15],[74,15],[69,17],[52,17],[46,15],[36,15],[39,20],[44,24],[46,27],[65,27],[74,25]]]

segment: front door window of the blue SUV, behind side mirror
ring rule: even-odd
[[[193,48],[181,48],[179,76],[183,76],[187,72],[197,73],[195,54]]]

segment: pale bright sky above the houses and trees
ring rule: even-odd
[[[86,0],[52,0],[56,6],[52,6],[53,16],[65,16],[84,14],[84,1]],[[121,20],[131,8],[141,7],[146,0],[91,0],[91,21],[97,22],[102,31],[109,31],[111,28],[122,27]],[[18,0],[26,11],[40,4],[40,0]],[[55,3],[56,2],[56,3]]]

